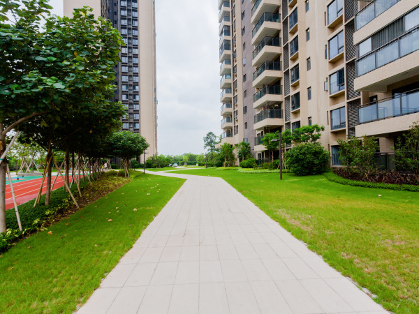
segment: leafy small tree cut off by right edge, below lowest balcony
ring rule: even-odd
[[[408,170],[419,174],[419,122],[413,122],[407,133],[395,143],[397,170]]]

